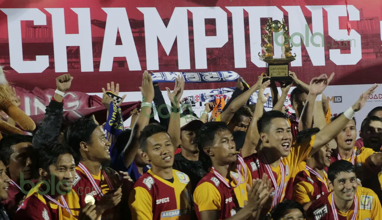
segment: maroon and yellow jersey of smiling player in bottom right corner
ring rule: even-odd
[[[333,192],[327,193],[312,203],[307,210],[309,219],[332,220],[334,219],[333,215],[336,214],[339,220],[351,220],[354,209],[357,210],[356,220],[382,219],[382,208],[380,201],[377,194],[375,194],[371,189],[358,186],[356,190],[358,206],[354,207],[353,202],[353,205],[346,213],[341,212],[337,209],[337,207],[335,208],[335,212],[333,212],[332,194]]]

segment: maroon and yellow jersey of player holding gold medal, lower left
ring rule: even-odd
[[[46,199],[43,192],[39,193],[39,187],[41,184],[35,186],[29,191],[28,196],[16,211],[15,219],[22,220],[76,220],[73,215],[78,216],[79,211],[71,210],[70,214],[65,208],[54,204]],[[79,209],[79,197],[73,189],[71,193],[65,194],[64,199],[68,204],[69,209]],[[61,198],[58,199],[60,204],[63,204]]]

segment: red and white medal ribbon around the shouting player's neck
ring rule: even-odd
[[[275,196],[274,196],[273,201],[272,201],[272,207],[275,207],[277,203],[281,202],[281,197],[282,197],[283,190],[284,190],[285,166],[280,159],[281,181],[280,181],[280,186],[279,186],[279,185],[277,185],[277,178],[275,178],[275,176],[273,175],[272,168],[268,164],[267,159],[265,158],[264,153],[262,153],[262,152],[260,153],[260,159],[264,162],[264,165],[268,171],[268,175],[270,177],[270,180],[272,181],[272,184],[275,188]]]

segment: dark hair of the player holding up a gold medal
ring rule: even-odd
[[[74,158],[74,163],[78,165],[79,157],[73,149],[65,144],[55,144],[51,146],[44,146],[36,152],[38,158],[37,169],[42,168],[45,171],[49,172],[50,165],[57,165],[58,158],[63,154],[70,154]]]

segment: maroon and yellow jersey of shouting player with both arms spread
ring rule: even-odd
[[[281,202],[284,200],[284,198],[289,198],[286,196],[291,196],[291,190],[293,189],[293,174],[296,172],[300,164],[308,159],[309,153],[312,149],[312,146],[314,144],[314,140],[316,138],[316,135],[313,135],[310,139],[308,138],[305,140],[301,145],[293,144],[291,147],[290,154],[287,157],[283,157],[281,159],[281,163],[284,167],[283,173],[284,173],[284,182],[281,183],[281,168],[280,166],[277,167],[271,167],[272,169],[272,175],[274,175],[275,180],[277,181],[277,186],[274,186],[272,183],[272,187],[278,188],[278,186],[283,185],[283,191],[282,191],[282,196],[280,198]],[[248,157],[244,158],[245,163],[247,164],[250,172],[251,172],[251,177],[252,179],[262,178],[262,175],[266,173],[269,175],[264,161],[260,159],[260,155],[258,153],[252,154]],[[287,187],[288,186],[288,187]],[[272,201],[274,199],[275,191],[270,194],[270,199],[267,201],[267,203],[264,205],[264,208],[262,212],[269,212],[272,209]]]

